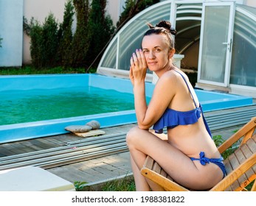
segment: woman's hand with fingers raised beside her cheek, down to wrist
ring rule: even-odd
[[[143,54],[142,49],[136,49],[136,53],[134,53],[131,57],[131,67],[129,77],[131,79],[131,83],[134,85],[136,81],[145,81],[145,77],[147,74],[147,63],[145,60],[145,56]]]

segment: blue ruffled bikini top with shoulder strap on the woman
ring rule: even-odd
[[[176,72],[181,75],[181,77],[184,79],[187,85],[187,81],[183,77],[183,75],[179,71],[176,71]],[[187,85],[187,88],[190,91],[190,95],[192,96],[193,102],[196,106],[196,101],[188,85]],[[210,128],[207,124],[206,119],[204,118],[204,113],[203,113],[201,104],[199,104],[199,107],[196,106],[195,109],[186,111],[186,112],[181,112],[181,111],[167,108],[167,110],[165,110],[165,113],[163,113],[162,117],[160,117],[159,120],[156,121],[156,123],[153,125],[153,129],[155,130],[156,133],[161,134],[163,132],[164,127],[167,127],[167,129],[172,129],[179,125],[195,124],[198,121],[198,118],[200,118],[201,116],[204,119],[204,124],[207,129],[207,132],[212,137]]]

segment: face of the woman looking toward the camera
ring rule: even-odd
[[[170,51],[165,35],[147,35],[142,40],[142,50],[149,70],[160,71],[170,67]]]

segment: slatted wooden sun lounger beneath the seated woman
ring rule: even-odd
[[[252,118],[251,121],[218,147],[222,154],[238,140],[241,141],[238,149],[235,149],[235,152],[224,160],[228,175],[209,191],[246,191],[246,186],[256,179],[255,128],[256,117]],[[161,185],[166,191],[190,191],[190,189],[174,182],[161,166],[149,156],[145,160],[141,173],[149,180]],[[256,191],[256,180],[251,191]]]

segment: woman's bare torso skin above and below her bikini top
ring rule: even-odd
[[[186,74],[180,70],[179,73],[182,77],[176,71],[170,71],[170,73],[170,75],[175,75],[178,80],[176,81],[176,94],[170,101],[168,108],[186,112],[198,107],[198,98]],[[178,127],[167,129],[168,142],[188,157],[196,157],[201,151],[204,151],[208,157],[219,157],[218,149],[207,132],[202,115],[195,124],[179,125]]]

